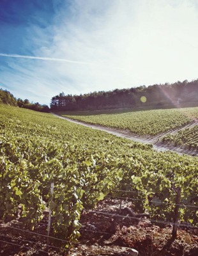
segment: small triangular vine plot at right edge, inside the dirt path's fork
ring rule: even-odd
[[[198,125],[183,129],[175,134],[167,134],[161,141],[162,143],[173,145],[174,147],[198,150]]]

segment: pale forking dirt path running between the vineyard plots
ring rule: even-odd
[[[194,123],[187,124],[184,127],[181,127],[181,128],[176,129],[174,131],[165,132],[164,134],[160,134],[159,136],[148,138],[146,136],[145,137],[140,137],[140,136],[137,136],[135,134],[131,134],[129,131],[121,131],[121,130],[117,130],[117,129],[113,129],[113,128],[109,128],[109,127],[104,127],[104,126],[94,125],[94,124],[88,124],[86,122],[73,120],[72,118],[68,118],[68,117],[65,117],[65,116],[60,116],[60,115],[57,115],[55,113],[52,113],[52,115],[55,115],[55,116],[57,116],[61,119],[65,119],[65,120],[67,120],[69,122],[72,122],[74,124],[80,124],[80,125],[84,125],[86,127],[93,128],[93,129],[96,129],[96,130],[105,131],[105,132],[108,132],[110,134],[114,134],[114,135],[116,135],[118,137],[121,137],[121,138],[126,138],[126,139],[129,139],[129,140],[133,140],[133,141],[137,141],[137,142],[141,142],[141,143],[152,144],[153,149],[155,149],[156,151],[165,152],[165,151],[171,150],[172,152],[176,152],[178,154],[187,154],[189,156],[198,156],[197,152],[186,150],[184,148],[179,148],[179,147],[170,147],[168,145],[164,145],[162,143],[157,142],[157,140],[159,138],[162,138],[165,134],[169,134],[169,133],[172,134],[174,132],[178,132],[179,130],[182,130],[182,129],[185,129],[185,128],[188,128],[188,127],[193,127],[194,125],[197,125],[198,120],[195,120]]]

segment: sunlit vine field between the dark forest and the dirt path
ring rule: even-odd
[[[61,113],[67,116],[90,124],[98,124],[115,129],[130,131],[139,136],[156,136],[163,132],[172,131],[179,127],[193,122],[198,118],[198,108],[183,109],[155,109],[145,111],[131,111],[128,113],[98,113],[93,111],[77,113]]]

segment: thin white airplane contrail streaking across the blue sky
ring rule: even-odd
[[[31,60],[44,60],[44,61],[63,61],[63,62],[69,62],[69,63],[76,63],[76,64],[83,64],[83,65],[96,65],[96,66],[104,66],[103,63],[91,63],[86,61],[75,61],[75,60],[67,60],[62,58],[49,58],[49,57],[40,57],[40,56],[29,56],[29,55],[19,55],[19,54],[6,54],[6,53],[0,53],[0,56],[3,57],[10,57],[10,58],[23,58],[23,59],[31,59]],[[124,70],[123,68],[118,67],[111,67],[107,66],[108,68],[115,68],[119,70]]]

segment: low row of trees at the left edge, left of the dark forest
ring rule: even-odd
[[[49,112],[49,106],[41,105],[38,102],[31,103],[28,99],[16,99],[13,94],[7,90],[0,89],[0,104],[8,104],[10,106],[18,106],[19,108],[32,109],[34,111]]]

